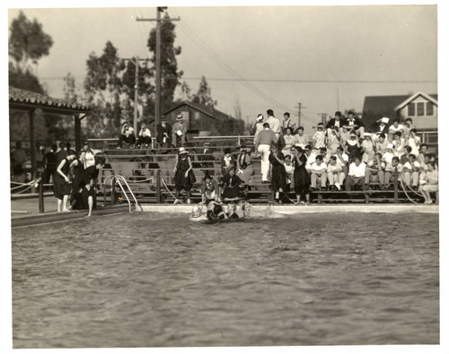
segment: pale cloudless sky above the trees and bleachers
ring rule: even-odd
[[[54,40],[38,75],[62,95],[66,73],[78,84],[85,61],[107,40],[119,56],[146,57],[154,7],[24,9]],[[19,10],[9,11],[9,23]],[[205,75],[217,108],[233,115],[239,99],[251,120],[273,108],[311,126],[318,113],[361,110],[365,96],[437,93],[436,5],[169,7],[183,80],[193,91]],[[224,79],[224,80],[215,80]],[[237,79],[245,79],[246,82]],[[254,80],[254,81],[253,81]],[[257,80],[257,81],[255,81]]]

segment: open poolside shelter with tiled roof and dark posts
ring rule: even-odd
[[[88,106],[70,103],[64,99],[53,99],[40,93],[9,86],[9,110],[26,112],[30,121],[31,179],[36,173],[36,149],[34,148],[34,117],[37,113],[73,117],[75,122],[75,150],[81,149],[81,120],[91,113]]]

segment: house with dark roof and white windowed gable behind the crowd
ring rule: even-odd
[[[363,117],[368,124],[381,117],[410,117],[413,125],[421,131],[438,129],[438,95],[417,92],[401,96],[367,96],[363,108]]]

